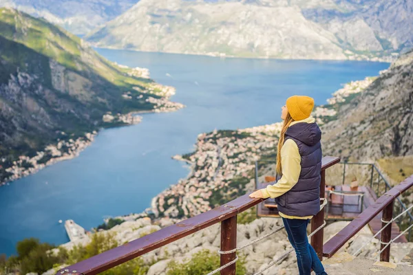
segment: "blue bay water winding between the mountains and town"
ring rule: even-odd
[[[151,198],[189,173],[172,155],[193,151],[199,133],[279,121],[288,96],[325,104],[343,83],[376,76],[388,63],[212,58],[98,50],[110,61],[147,67],[158,83],[176,87],[173,113],[143,115],[141,124],[100,131],[79,157],[0,188],[0,254],[34,236],[68,240],[59,219],[89,230],[107,216],[142,212]]]

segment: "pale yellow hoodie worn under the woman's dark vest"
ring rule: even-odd
[[[298,120],[291,122],[290,126],[297,123],[314,123],[315,119],[310,116],[305,120]],[[299,155],[298,146],[294,140],[286,140],[281,148],[281,165],[282,165],[282,177],[276,184],[268,185],[266,188],[261,189],[264,199],[271,197],[279,197],[297,184],[299,174],[301,173],[301,155]],[[313,216],[297,217],[288,216],[279,212],[279,215],[286,219],[311,219]]]

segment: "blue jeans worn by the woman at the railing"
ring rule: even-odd
[[[314,248],[308,243],[307,225],[309,219],[284,219],[284,226],[288,234],[288,240],[297,254],[299,275],[310,275],[311,270],[316,275],[327,275]]]

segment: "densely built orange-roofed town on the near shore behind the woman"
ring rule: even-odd
[[[337,113],[336,104],[352,94],[361,93],[374,79],[352,81],[332,94],[329,104],[314,109],[313,116],[317,122],[323,124],[327,118],[334,117]],[[214,207],[211,199],[213,195],[224,196],[220,192],[225,192],[231,181],[237,178],[251,181],[255,160],[275,153],[281,129],[282,122],[277,122],[237,131],[201,133],[193,153],[173,156],[173,159],[190,164],[191,173],[154,197],[150,212],[156,217],[182,219],[210,210]],[[237,191],[240,195],[244,194],[245,186]]]

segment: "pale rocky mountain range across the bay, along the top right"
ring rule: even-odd
[[[141,0],[98,47],[264,58],[388,60],[413,47],[413,0]]]

